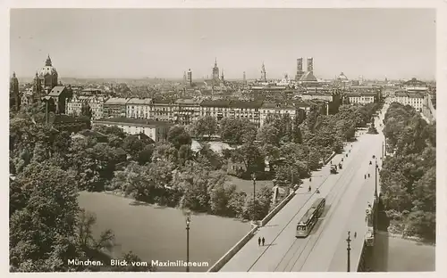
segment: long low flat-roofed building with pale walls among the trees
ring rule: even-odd
[[[167,140],[169,128],[173,127],[173,124],[148,119],[109,118],[93,120],[92,126],[120,127],[127,134],[144,134],[154,142],[164,142]]]

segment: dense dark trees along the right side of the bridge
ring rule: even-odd
[[[435,240],[436,124],[394,102],[384,116],[387,151],[380,172],[382,199],[392,228]]]

